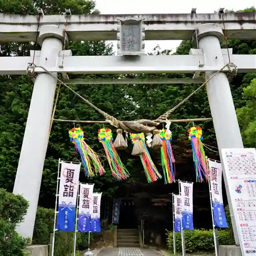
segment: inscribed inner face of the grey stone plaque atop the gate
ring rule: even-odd
[[[139,25],[122,25],[122,51],[139,52],[140,34]]]

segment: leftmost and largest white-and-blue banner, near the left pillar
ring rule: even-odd
[[[74,231],[80,165],[60,162],[57,230]]]

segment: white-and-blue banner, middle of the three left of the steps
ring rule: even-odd
[[[91,215],[93,211],[94,184],[80,184],[77,230],[91,231]]]

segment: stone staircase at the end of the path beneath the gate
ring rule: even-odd
[[[117,247],[140,247],[138,229],[118,229]]]

